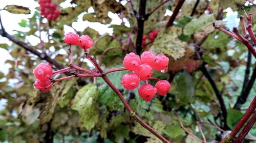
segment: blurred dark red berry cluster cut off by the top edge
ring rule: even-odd
[[[51,3],[51,0],[39,0],[38,4],[40,5],[41,16],[46,17],[49,21],[58,18],[60,11],[56,4]]]

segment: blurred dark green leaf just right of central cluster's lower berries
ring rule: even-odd
[[[192,76],[186,71],[180,72],[174,79],[175,89],[170,93],[175,95],[176,102],[185,105],[193,102],[195,94],[194,81]]]

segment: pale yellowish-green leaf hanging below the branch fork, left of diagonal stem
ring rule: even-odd
[[[81,127],[91,130],[98,122],[99,113],[97,101],[97,87],[94,84],[87,84],[82,87],[75,96],[72,109],[79,112]]]

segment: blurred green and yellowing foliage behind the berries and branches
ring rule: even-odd
[[[58,4],[65,0],[57,1]],[[138,1],[132,1],[135,10],[138,10]],[[152,11],[161,0],[147,1],[146,13]],[[109,47],[123,49],[111,49],[103,56],[102,67],[111,69],[122,67],[122,59],[129,51],[134,51],[136,41],[135,28],[136,17],[132,7],[124,1],[115,0],[73,0],[72,7],[60,9],[61,14],[56,21],[50,23],[40,17],[39,8],[33,11],[33,16],[23,19],[18,24],[20,27],[28,27],[29,31],[16,31],[13,36],[26,41],[30,45],[28,36],[38,35],[37,19],[41,23],[41,32],[48,33],[47,42],[44,43],[45,51],[54,60],[68,66],[68,54],[61,54],[60,50],[67,51],[68,47],[63,42],[63,26],[72,26],[77,17],[82,15],[82,20],[108,24],[113,28],[113,34],[100,35],[93,28],[87,27],[83,31],[76,31],[79,35],[89,35],[95,41],[91,49],[91,55],[97,60],[103,51]],[[212,22],[227,26],[225,17],[227,8],[242,14],[239,9],[244,6],[246,11],[256,17],[255,7],[244,5],[246,1],[212,0],[200,1],[193,16],[191,12],[196,0],[187,0],[182,6],[173,26],[165,29],[169,16],[164,16],[166,10],[173,11],[177,1],[170,1],[155,11],[145,21],[144,34],[153,29],[159,31],[159,35],[153,44],[144,50],[153,50],[156,54],[162,53],[170,58],[169,71],[167,73],[154,72],[153,76],[167,79],[172,82],[172,90],[164,96],[156,96],[152,102],[142,100],[137,90],[127,91],[120,84],[121,77],[126,71],[111,73],[109,78],[122,92],[132,109],[148,124],[153,126],[173,142],[198,142],[180,127],[180,124],[172,112],[178,111],[184,126],[193,134],[201,138],[196,121],[203,120],[221,126],[219,117],[220,105],[214,90],[203,73],[197,68],[203,62],[208,63],[207,69],[216,81],[218,89],[224,98],[227,108],[227,125],[232,129],[242,117],[256,94],[254,83],[250,91],[248,101],[241,110],[233,109],[237,97],[243,87],[244,70],[247,61],[246,47],[230,38],[228,35],[215,31]],[[205,11],[206,6],[211,9]],[[88,12],[93,8],[94,12]],[[15,14],[28,14],[32,11],[15,5],[7,6],[5,11]],[[3,11],[4,11],[3,10]],[[218,17],[219,11],[223,17]],[[109,13],[117,14],[121,19],[129,22],[129,27],[124,23],[111,24]],[[255,22],[255,20],[254,20]],[[92,23],[93,24],[93,23]],[[256,31],[256,24],[253,30]],[[4,25],[8,26],[8,25]],[[131,32],[132,31],[132,32]],[[131,33],[132,45],[127,45],[127,39]],[[199,54],[196,41],[207,36],[200,47],[203,53]],[[149,41],[147,41],[149,42]],[[40,43],[33,46],[40,50]],[[12,55],[12,60],[5,63],[11,65],[7,75],[0,72],[0,99],[7,101],[4,109],[0,110],[0,141],[2,142],[161,142],[153,134],[135,123],[129,113],[125,111],[121,101],[115,93],[100,78],[75,78],[54,84],[49,92],[38,92],[33,88],[34,77],[32,70],[44,60],[29,53],[15,43],[8,45],[1,43]],[[83,68],[92,68],[84,59],[83,51],[78,47],[72,47],[74,62]],[[195,62],[196,61],[196,62]],[[195,64],[195,69],[186,70],[189,63]],[[252,58],[250,70],[255,68],[255,59]],[[195,70],[195,71],[194,71]],[[252,72],[251,72],[252,73]],[[173,76],[175,75],[175,76]],[[65,76],[65,75],[58,75]],[[12,82],[18,79],[18,82]],[[154,84],[155,81],[150,81]],[[141,82],[143,83],[143,82]],[[208,141],[216,139],[221,132],[215,128],[203,125],[203,132]],[[256,128],[252,128],[250,137],[256,137]],[[249,140],[246,140],[249,142]]]

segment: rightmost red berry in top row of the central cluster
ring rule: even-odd
[[[167,58],[163,54],[158,54],[156,56],[156,61],[153,65],[153,69],[161,71],[161,70],[167,70],[168,69],[168,63],[169,63],[169,58]]]

